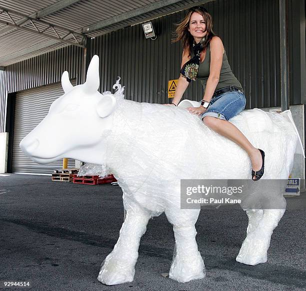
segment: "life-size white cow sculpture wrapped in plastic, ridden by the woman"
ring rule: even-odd
[[[61,79],[64,95],[52,103],[20,148],[39,164],[67,157],[106,165],[118,180],[126,215],[98,281],[115,285],[133,280],[140,238],[150,217],[163,212],[173,225],[176,245],[169,278],[178,282],[201,279],[204,264],[194,228],[200,210],[180,209],[180,179],[250,179],[250,160],[239,146],[183,108],[125,100],[118,81],[115,94],[100,94],[98,70],[95,55],[86,82],[74,87],[65,71]],[[188,102],[194,104],[183,101],[182,107],[190,106]],[[278,114],[253,109],[230,121],[265,151],[262,179],[287,179],[295,149],[300,147],[290,111]],[[58,122],[78,126],[53,131]],[[285,205],[284,198],[279,199]],[[267,261],[270,237],[283,213],[284,209],[246,210],[249,224],[237,262],[256,265]]]

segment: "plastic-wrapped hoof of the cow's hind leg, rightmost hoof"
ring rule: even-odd
[[[260,234],[256,231],[248,234],[242,243],[236,261],[250,266],[265,263],[270,238],[271,234]]]

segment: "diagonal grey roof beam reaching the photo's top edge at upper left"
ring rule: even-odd
[[[61,0],[61,1],[58,1],[57,3],[54,3],[40,11],[37,11],[37,12],[34,12],[30,15],[28,15],[29,17],[32,17],[32,18],[42,18],[48,14],[51,14],[51,13],[54,13],[58,10],[61,10],[67,6],[70,6],[72,4],[74,4],[75,2],[78,2],[79,0]],[[26,22],[28,20],[28,18],[26,17],[23,17],[19,20],[16,21],[16,25],[20,25],[24,22]],[[15,27],[11,27],[11,26],[5,26],[3,28],[0,29],[0,35],[2,34],[5,34],[9,31],[12,31],[12,30],[15,30],[16,28]]]

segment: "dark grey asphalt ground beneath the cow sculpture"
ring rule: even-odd
[[[235,261],[247,227],[240,206],[205,208],[196,223],[205,279],[183,284],[161,276],[171,265],[174,236],[160,215],[141,239],[134,281],[105,286],[96,278],[123,222],[120,187],[0,177],[0,281],[29,281],[37,291],[306,290],[306,193],[286,200],[265,264]]]

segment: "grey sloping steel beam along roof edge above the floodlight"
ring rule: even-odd
[[[125,13],[122,13],[120,15],[117,15],[117,16],[114,16],[114,17],[96,22],[96,23],[91,24],[89,26],[83,27],[82,28],[82,33],[87,33],[87,32],[90,32],[92,30],[103,28],[103,27],[111,25],[113,23],[116,23],[116,22],[119,22],[119,21],[122,21],[122,20],[126,20],[128,18],[132,18],[132,17],[138,16],[138,15],[144,14],[146,12],[149,12],[149,11],[152,11],[152,10],[155,10],[155,9],[159,9],[161,7],[171,5],[171,4],[174,4],[176,2],[180,2],[180,1],[181,0],[162,0],[162,1],[158,1],[158,2],[155,2],[155,3],[149,4],[149,5],[146,5],[144,7],[140,7],[140,8],[134,9],[132,11],[125,12]],[[193,6],[194,6],[194,4],[193,4]]]

